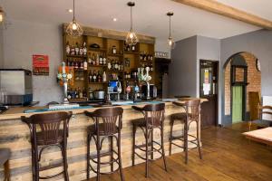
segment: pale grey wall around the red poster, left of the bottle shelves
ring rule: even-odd
[[[4,30],[4,68],[24,68],[32,71],[32,55],[49,55],[49,76],[34,76],[34,100],[40,105],[62,100],[56,83],[57,67],[62,61],[62,31],[56,24],[35,24],[12,21]]]

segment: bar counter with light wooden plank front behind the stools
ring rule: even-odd
[[[184,100],[180,100],[183,102]],[[201,100],[205,101],[205,100]],[[157,102],[157,101],[156,101]],[[154,102],[153,102],[154,103]],[[138,104],[137,106],[144,106],[146,103]],[[165,102],[165,121],[164,121],[164,141],[166,156],[169,155],[169,136],[170,136],[170,115],[184,111],[179,107],[174,106],[171,102]],[[122,167],[131,166],[131,151],[132,151],[132,125],[131,119],[142,118],[141,112],[131,109],[131,105],[123,105],[122,129],[121,129],[121,159]],[[25,181],[32,180],[32,166],[31,166],[31,144],[30,133],[27,125],[21,121],[21,116],[29,117],[34,113],[24,113],[25,109],[29,108],[11,108],[0,115],[0,148],[10,148],[12,156],[10,159],[11,180]],[[41,108],[35,108],[41,109]],[[77,109],[77,110],[62,110],[72,111],[73,118],[69,124],[69,138],[67,143],[67,157],[68,157],[68,172],[70,180],[84,180],[86,179],[86,138],[87,127],[93,124],[92,119],[88,119],[84,114],[84,110],[93,111],[97,108]],[[50,112],[50,111],[47,111]],[[39,112],[40,113],[40,112]],[[174,127],[174,134],[181,133],[181,124]],[[191,125],[189,133],[196,135],[196,125]],[[154,132],[154,140],[159,138],[159,132]],[[159,138],[160,140],[160,138]],[[137,129],[136,143],[142,144],[144,141],[141,129]],[[181,143],[180,143],[181,144]],[[114,144],[115,145],[115,144]],[[107,144],[105,144],[107,146]],[[189,145],[193,147],[193,145]],[[103,147],[102,151],[107,147]],[[172,153],[181,152],[181,148],[172,147]],[[93,142],[91,142],[91,153],[96,153]],[[156,157],[156,154],[155,154]],[[52,147],[44,151],[42,155],[42,166],[50,166],[58,163],[61,160],[61,152],[59,148]],[[183,157],[180,157],[183,159]],[[136,157],[135,163],[143,162],[142,159]],[[115,166],[116,167],[116,166]],[[110,167],[102,167],[102,170],[108,170]],[[53,168],[41,172],[41,176],[48,176],[63,170],[63,167]],[[161,170],[164,171],[164,170]],[[1,170],[3,176],[3,170]],[[144,173],[142,173],[144,175]],[[91,176],[95,176],[91,172]],[[63,180],[63,176],[58,176],[53,180]]]

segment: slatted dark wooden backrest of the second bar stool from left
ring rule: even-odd
[[[85,114],[94,120],[97,135],[99,135],[101,131],[104,135],[112,135],[116,133],[117,129],[119,132],[121,130],[122,112],[122,108],[116,107],[94,110],[93,112],[85,111]],[[102,123],[102,125],[100,123]],[[116,123],[118,123],[118,126]]]

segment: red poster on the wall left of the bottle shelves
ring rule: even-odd
[[[48,55],[33,55],[33,74],[49,75],[49,57]]]

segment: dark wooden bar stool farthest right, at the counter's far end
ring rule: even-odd
[[[188,142],[193,143],[199,148],[199,157],[202,159],[201,147],[200,147],[200,100],[188,100],[185,103],[173,102],[174,105],[180,106],[185,112],[175,113],[170,116],[170,155],[172,145],[175,145],[179,148],[183,148],[185,151],[185,163],[188,163]],[[190,112],[189,112],[190,110]],[[173,136],[173,125],[176,120],[179,120],[180,123],[183,123],[183,135]],[[197,137],[190,135],[189,125],[192,122],[197,123]],[[189,140],[188,138],[194,138]],[[180,146],[176,143],[173,143],[173,140],[183,141],[183,146]],[[196,143],[197,142],[197,143]]]

